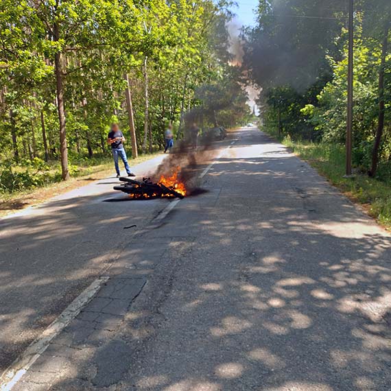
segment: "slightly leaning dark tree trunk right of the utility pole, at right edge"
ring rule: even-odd
[[[372,167],[369,171],[369,176],[375,176],[377,165],[379,164],[379,150],[381,145],[381,138],[384,130],[384,113],[386,111],[386,104],[384,99],[384,73],[386,70],[386,58],[388,52],[388,34],[390,32],[390,21],[386,21],[386,28],[384,29],[384,40],[381,48],[381,63],[379,69],[379,119],[377,120],[377,132],[375,137],[375,145],[372,150]]]

